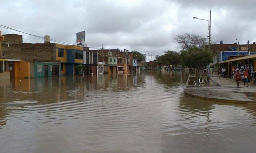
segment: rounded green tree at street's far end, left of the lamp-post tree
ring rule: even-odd
[[[175,51],[165,51],[164,55],[157,55],[156,59],[158,66],[165,65],[167,70],[180,64],[180,54]],[[171,67],[172,66],[172,67]]]

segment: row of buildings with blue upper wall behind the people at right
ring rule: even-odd
[[[220,44],[211,45],[211,50],[215,53],[214,62],[210,68],[217,71],[218,68],[225,68],[228,77],[232,76],[234,67],[242,70],[248,69],[256,71],[256,43],[253,44]]]

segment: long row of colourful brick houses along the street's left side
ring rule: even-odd
[[[0,32],[0,80],[80,75],[78,65],[85,75],[139,71],[137,59],[128,50],[51,43],[48,35],[44,43],[23,43],[22,35]]]

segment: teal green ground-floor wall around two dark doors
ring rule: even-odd
[[[44,65],[48,65],[48,77],[52,77],[52,66],[58,65],[59,66],[59,76],[61,75],[60,72],[60,63],[34,63],[34,77],[44,77]]]

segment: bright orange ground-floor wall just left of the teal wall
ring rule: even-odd
[[[30,77],[29,64],[26,61],[14,62],[14,78]]]

